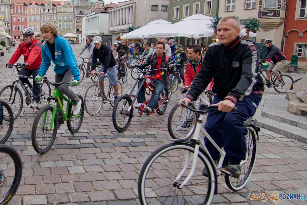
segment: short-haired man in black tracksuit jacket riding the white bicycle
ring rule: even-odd
[[[179,103],[189,104],[214,78],[213,104],[205,129],[212,139],[224,147],[230,165],[225,169],[234,177],[241,174],[240,162],[246,157],[247,129],[244,121],[252,117],[262,99],[264,85],[258,77],[259,48],[252,41],[239,37],[240,21],[236,17],[224,17],[217,26],[219,41],[209,45],[200,72],[189,89],[186,98]],[[236,112],[230,112],[236,107]],[[206,147],[214,160],[220,153],[206,140]],[[206,175],[206,168],[203,175]]]

